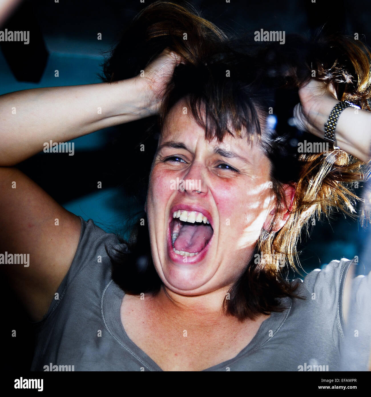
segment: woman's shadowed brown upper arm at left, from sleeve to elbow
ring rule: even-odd
[[[0,208],[1,277],[41,320],[75,256],[80,219],[13,167],[0,167]]]

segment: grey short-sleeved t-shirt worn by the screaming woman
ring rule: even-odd
[[[161,371],[125,333],[120,319],[124,292],[111,278],[105,244],[118,247],[119,241],[92,220],[81,218],[71,268],[44,318],[34,323],[37,339],[31,370]],[[366,370],[369,326],[349,342],[352,351],[357,349],[357,360],[343,364],[340,360],[344,348],[342,292],[350,264],[346,259],[332,261],[323,270],[310,272],[304,281],[292,281],[300,283],[296,292],[306,300],[283,298],[287,309],[272,312],[235,358],[205,371]],[[356,322],[365,317],[371,290],[369,277],[357,280],[351,306],[353,312],[359,311]]]

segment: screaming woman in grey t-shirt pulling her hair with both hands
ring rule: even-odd
[[[348,184],[370,159],[368,50],[337,39],[347,68],[333,62],[336,51],[325,57],[331,40],[248,53],[190,6],[166,2],[144,9],[127,37],[137,40],[124,38],[104,67],[115,83],[0,98],[1,252],[29,254],[27,268],[4,269],[35,321],[32,369],[339,369],[352,261],[303,283],[283,271],[315,213],[354,211]],[[308,52],[293,60],[303,42]],[[301,87],[295,122],[319,138],[341,98],[361,107],[338,119],[340,150],[299,154],[282,124],[274,128],[270,109],[284,85]],[[14,168],[50,140],[156,114],[146,219],[127,243]]]

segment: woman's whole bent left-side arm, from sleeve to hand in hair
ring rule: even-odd
[[[41,151],[44,142],[68,141],[156,114],[178,62],[165,50],[144,69],[144,77],[0,96],[0,254],[27,261],[0,269],[33,320],[47,312],[71,266],[81,222],[11,166]]]

